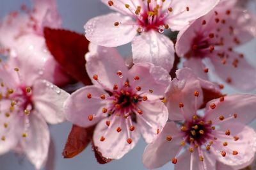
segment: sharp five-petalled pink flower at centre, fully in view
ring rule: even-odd
[[[103,157],[121,158],[143,135],[147,143],[161,132],[168,111],[160,98],[170,75],[160,66],[138,63],[128,70],[116,49],[93,45],[86,54],[92,86],[65,102],[67,120],[80,127],[96,125],[93,143]]]

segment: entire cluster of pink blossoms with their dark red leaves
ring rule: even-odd
[[[85,37],[61,29],[54,0],[33,0],[32,10],[22,5],[1,20],[0,154],[15,151],[35,169],[52,169],[47,123],[67,120],[65,158],[92,142],[106,164],[142,136],[148,169],[250,166],[256,95],[222,90],[256,88],[256,68],[235,49],[255,38],[256,16],[236,0],[102,3],[115,13],[86,22]],[[130,42],[127,65],[115,47]],[[70,88],[74,82],[84,86]]]

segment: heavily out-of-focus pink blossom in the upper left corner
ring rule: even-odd
[[[54,0],[33,0],[33,10],[22,5],[22,12],[11,12],[0,23],[0,54],[13,56],[26,54],[28,47],[33,46],[36,54],[33,56],[45,56],[45,75],[48,81],[54,84],[63,85],[69,78],[56,63],[45,45],[43,35],[44,26],[52,28],[61,26],[61,19],[58,15],[56,2]],[[51,76],[49,76],[51,75]]]

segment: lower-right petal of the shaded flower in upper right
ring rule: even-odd
[[[236,52],[228,52],[225,65],[221,58],[211,58],[217,75],[237,89],[252,90],[256,87],[256,69]],[[234,62],[237,60],[237,63]],[[250,83],[246,83],[250,80]]]

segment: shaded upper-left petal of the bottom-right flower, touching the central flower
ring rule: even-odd
[[[200,80],[192,70],[183,68],[176,74],[177,79],[173,79],[166,89],[166,106],[170,120],[184,120],[184,116],[188,119],[195,115],[197,109],[203,104],[203,92]],[[198,97],[195,97],[195,91],[199,93]],[[180,104],[184,107],[180,107]]]

